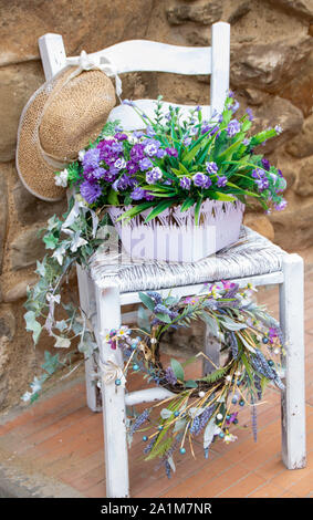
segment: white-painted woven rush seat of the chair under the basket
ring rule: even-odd
[[[105,242],[104,242],[105,247]],[[238,242],[195,263],[131,261],[129,257],[98,248],[90,272],[103,288],[118,287],[122,293],[190,285],[281,271],[286,254],[267,238],[242,226]],[[125,261],[126,260],[126,261]],[[119,263],[118,263],[119,261]]]

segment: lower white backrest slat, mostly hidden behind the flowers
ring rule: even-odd
[[[154,118],[154,111],[156,107],[155,100],[135,100],[135,105],[140,108],[148,118]],[[176,107],[179,106],[181,108],[181,119],[186,119],[190,117],[190,110],[195,110],[196,105],[178,105],[175,103],[163,102],[163,113],[164,115],[168,112],[169,106]],[[204,119],[210,118],[210,106],[204,105],[201,106]],[[132,106],[128,105],[118,105],[115,106],[108,116],[108,121],[121,121],[123,128],[125,131],[134,131],[134,129],[142,129],[146,128],[146,123],[142,119],[142,117],[135,112]],[[145,119],[147,121],[147,119]]]

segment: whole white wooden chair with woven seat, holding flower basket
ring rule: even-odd
[[[66,58],[62,37],[45,34],[39,46],[46,79],[51,79],[73,60]],[[229,89],[230,28],[219,22],[212,25],[211,48],[184,48],[144,40],[117,43],[91,54],[93,60],[108,58],[117,73],[134,71],[161,71],[179,74],[211,74],[211,106],[204,110],[209,115],[219,112]],[[152,112],[153,101],[139,100],[136,104]],[[190,107],[188,107],[190,108]],[[140,127],[140,121],[125,105],[112,111],[111,119],[121,119],[127,129]],[[104,344],[103,337],[111,329],[121,325],[121,308],[137,303],[138,290],[169,289],[174,294],[195,294],[207,281],[229,279],[244,285],[279,284],[280,320],[288,342],[285,364],[285,392],[282,395],[282,458],[289,469],[305,466],[305,399],[304,399],[304,336],[303,336],[303,261],[298,254],[288,254],[254,231],[243,228],[244,242],[216,258],[201,260],[192,266],[170,266],[155,262],[145,264],[108,266],[105,254],[95,256],[88,271],[77,267],[81,306],[92,318],[103,362],[115,353],[115,362],[122,365],[118,351]],[[207,333],[206,352],[217,362],[219,352]],[[126,444],[125,404],[137,404],[164,398],[164,389],[150,388],[125,395],[123,386],[109,384],[102,387],[102,399],[95,385],[96,366],[86,360],[86,394],[90,408],[102,408],[105,437],[107,497],[128,497],[128,456]]]

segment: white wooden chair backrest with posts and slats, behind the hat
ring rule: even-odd
[[[60,34],[44,34],[39,39],[39,48],[46,80],[73,62],[73,59],[66,58],[63,39]],[[118,74],[143,71],[189,75],[211,74],[210,105],[202,106],[204,118],[209,118],[213,112],[221,112],[229,90],[230,25],[226,22],[212,25],[211,46],[191,48],[148,40],[129,40],[90,54],[95,63],[101,63],[102,56],[111,61]],[[136,105],[150,117],[155,108],[155,101],[135,101]],[[189,112],[192,108],[190,105],[166,104],[180,106],[182,112]],[[145,126],[135,111],[124,104],[113,108],[109,119],[119,119],[123,127],[128,131]]]

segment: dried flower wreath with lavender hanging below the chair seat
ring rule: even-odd
[[[282,333],[264,308],[251,301],[252,290],[251,285],[242,290],[236,283],[223,281],[207,287],[206,294],[181,300],[171,295],[163,299],[152,291],[139,293],[148,310],[147,313],[142,308],[140,329],[124,325],[106,337],[113,350],[123,351],[125,358],[123,381],[117,377],[116,385],[125,382],[127,373],[140,372],[147,382],[153,381],[173,393],[139,415],[129,414],[127,419],[129,444],[135,431],[144,434],[145,459],[159,457],[168,477],[175,471],[175,451],[179,449],[184,455],[189,445],[194,455],[192,440],[200,433],[206,457],[216,438],[234,441],[237,437],[231,429],[238,424],[238,412],[244,405],[251,407],[257,440],[257,403],[262,399],[264,387],[270,383],[284,388],[279,375],[280,357],[284,353]],[[195,320],[210,326],[226,362],[202,377],[186,381],[186,365],[207,356],[199,352],[184,363],[171,360],[165,368],[160,350],[168,330],[188,327]],[[153,413],[157,410],[158,414]]]

